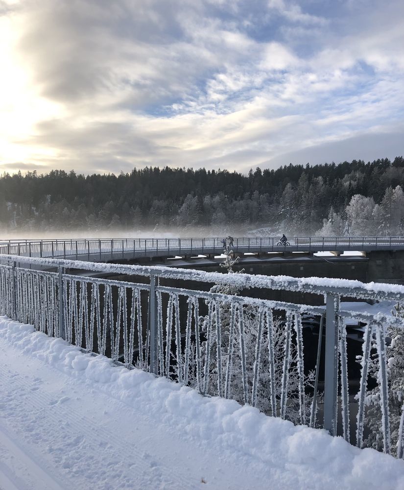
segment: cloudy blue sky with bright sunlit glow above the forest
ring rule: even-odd
[[[0,0],[0,172],[394,159],[403,0]]]

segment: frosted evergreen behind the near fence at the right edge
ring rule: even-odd
[[[392,311],[392,315],[404,319],[404,305],[397,303]],[[387,325],[386,335],[391,339],[390,345],[386,347],[391,452],[393,455],[397,455],[399,454],[397,442],[399,440],[400,430],[403,430],[404,423],[404,331],[400,327]],[[369,376],[377,382],[379,377],[379,362],[376,353],[376,340],[372,341],[372,347],[375,353],[370,358]],[[358,362],[361,362],[361,356],[358,356]],[[382,451],[382,417],[380,409],[380,388],[378,386],[366,393],[365,403],[368,406],[365,425],[369,429],[369,435],[364,440],[363,445]]]

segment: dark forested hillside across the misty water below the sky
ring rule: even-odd
[[[168,167],[119,175],[4,173],[0,225],[8,231],[265,226],[305,235],[322,227],[324,233],[340,228],[353,232],[360,226],[353,227],[348,207],[353,196],[360,195],[371,199],[365,211],[369,214],[372,208],[373,228],[382,218],[383,227],[376,231],[385,233],[389,227],[397,233],[403,224],[400,213],[395,211],[390,224],[386,213],[397,207],[394,199],[400,194],[397,186],[404,187],[403,168],[403,157],[397,157],[393,162],[290,164],[277,170],[257,168],[248,175]],[[356,211],[360,209],[358,204]]]

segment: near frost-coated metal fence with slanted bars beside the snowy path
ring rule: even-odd
[[[386,326],[402,329],[403,319],[342,311],[340,298],[404,302],[403,286],[14,255],[2,255],[0,262],[0,314],[128,368],[250,403],[273,417],[337,434],[339,416],[346,440],[353,431],[345,323],[360,320],[365,327],[356,444],[363,443],[369,363],[374,368],[376,362],[380,437],[390,452]],[[119,274],[125,276],[117,279]],[[246,295],[255,288],[321,294],[325,306]],[[320,319],[312,370],[302,322],[307,314]],[[398,441],[402,448],[402,426]]]

